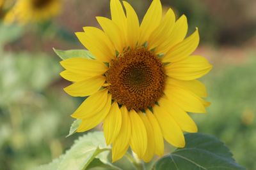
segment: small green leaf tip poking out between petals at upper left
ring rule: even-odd
[[[53,48],[54,52],[63,60],[70,59],[73,57],[82,57],[86,59],[95,59],[91,52],[88,50],[56,50]]]

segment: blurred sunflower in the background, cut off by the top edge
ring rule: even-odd
[[[5,22],[18,21],[44,22],[58,15],[61,10],[61,0],[17,0],[12,10],[5,17]]]

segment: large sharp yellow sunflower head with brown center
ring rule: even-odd
[[[173,146],[185,145],[183,132],[196,132],[187,112],[205,113],[209,103],[205,86],[196,80],[212,66],[191,55],[198,46],[198,29],[186,37],[187,19],[178,20],[171,9],[162,16],[159,0],[153,0],[141,24],[132,6],[111,0],[111,20],[97,17],[101,29],[84,27],[76,32],[95,56],[79,56],[60,62],[61,76],[72,85],[70,96],[87,97],[72,114],[82,120],[77,132],[103,122],[104,136],[112,144],[113,162],[129,146],[148,162],[163,155],[164,139]]]

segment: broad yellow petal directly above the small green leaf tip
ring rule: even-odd
[[[76,32],[81,43],[102,62],[115,59],[115,48],[108,36],[96,27],[84,27],[84,32]]]

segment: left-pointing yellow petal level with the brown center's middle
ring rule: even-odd
[[[64,88],[65,92],[74,97],[85,97],[95,94],[106,81],[104,76],[97,76],[83,81],[77,81]]]

